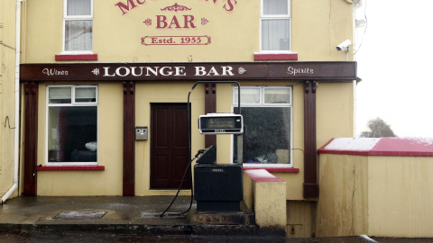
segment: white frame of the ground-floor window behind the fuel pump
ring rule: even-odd
[[[246,88],[257,88],[260,87],[260,103],[241,103],[241,111],[242,108],[247,107],[290,107],[290,163],[289,164],[247,164],[244,163],[243,166],[245,167],[293,167],[293,87],[292,86],[267,86],[267,85],[243,85],[241,86],[241,99],[242,99],[242,89]],[[290,99],[289,103],[264,103],[264,90],[265,89],[289,89]],[[235,108],[238,107],[237,104],[237,95],[235,94],[235,90],[237,90],[237,86],[232,87],[232,112],[235,111]],[[234,149],[233,149],[233,141],[234,141],[234,135],[231,135],[231,147],[230,147],[230,163],[234,163],[233,156],[234,156]]]

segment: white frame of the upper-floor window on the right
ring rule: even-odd
[[[287,54],[287,53],[293,53],[291,51],[291,0],[287,0],[287,13],[288,14],[264,14],[263,10],[263,0],[260,1],[260,53],[281,53],[281,54]],[[289,49],[288,50],[263,50],[263,43],[262,43],[262,23],[263,20],[289,20]]]

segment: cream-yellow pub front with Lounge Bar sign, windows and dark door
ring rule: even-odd
[[[266,169],[286,182],[288,209],[313,211],[317,148],[354,136],[356,63],[336,49],[353,37],[351,1],[21,7],[20,195],[171,195],[189,150],[216,145],[218,164]],[[238,112],[234,82],[242,161],[233,135],[197,129],[201,114]],[[309,236],[313,221],[292,225]]]

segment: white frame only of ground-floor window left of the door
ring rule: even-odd
[[[50,88],[51,87],[70,87],[71,88],[71,94],[70,94],[70,103],[50,103]],[[95,87],[96,88],[96,101],[95,102],[75,102],[75,89],[77,87]],[[49,154],[48,154],[48,141],[49,141],[49,110],[50,107],[65,107],[65,106],[97,106],[97,160],[99,160],[99,104],[97,102],[97,96],[98,96],[98,88],[97,85],[47,85],[47,91],[46,91],[46,102],[47,102],[47,109],[46,109],[46,120],[45,120],[45,165],[46,166],[97,166],[98,161],[96,162],[50,162],[49,161]]]

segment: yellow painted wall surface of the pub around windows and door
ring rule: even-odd
[[[120,0],[94,0],[94,53],[97,62],[207,62],[207,61],[253,61],[253,53],[260,51],[259,5],[260,1],[237,1],[235,10],[227,13],[223,9],[226,1],[186,2],[192,10],[188,14],[207,18],[209,23],[201,25],[197,19],[195,30],[156,30],[154,25],[146,26],[146,18],[154,19],[161,8],[176,3],[174,0],[146,1],[127,14],[122,14],[115,6]],[[178,3],[180,4],[180,3]],[[24,0],[23,1],[23,62],[51,63],[55,55],[62,51],[63,1]],[[346,1],[292,0],[291,4],[292,50],[299,54],[299,61],[341,61],[344,52],[337,52],[336,45],[345,39],[352,40],[352,4]],[[171,12],[172,13],[172,12]],[[184,13],[178,13],[181,16]],[[207,46],[143,46],[144,36],[161,35],[207,35],[212,38]],[[320,41],[318,41],[320,40]],[[349,55],[349,60],[352,57]],[[150,126],[150,103],[185,103],[187,94],[194,82],[137,82],[136,121],[137,126]],[[162,87],[161,87],[161,84]],[[40,136],[39,159],[45,161],[45,91],[40,91]],[[166,85],[166,86],[165,86]],[[174,87],[176,85],[176,87]],[[293,148],[303,149],[303,85],[301,81],[243,81],[241,85],[291,85],[293,87]],[[170,88],[166,88],[169,87]],[[173,88],[171,89],[171,86]],[[38,193],[60,194],[62,185],[55,184],[60,179],[75,181],[76,177],[90,178],[94,187],[76,186],[71,194],[121,194],[122,144],[108,140],[122,135],[122,87],[117,84],[102,83],[99,87],[99,148],[106,149],[107,157],[100,157],[100,165],[106,171],[98,172],[39,172]],[[204,87],[198,85],[191,97],[193,102],[192,152],[204,147],[204,136],[198,134],[198,115],[204,112]],[[106,91],[106,92],[103,92]],[[318,103],[318,148],[334,137],[353,136],[353,84],[319,83]],[[231,85],[217,85],[217,112],[231,111]],[[110,106],[111,105],[111,106]],[[114,107],[114,110],[112,110]],[[195,109],[197,108],[197,109]],[[107,112],[105,112],[107,111]],[[109,112],[108,112],[109,111]],[[114,116],[114,117],[112,117]],[[101,120],[101,119],[107,120]],[[101,122],[110,121],[110,122]],[[114,129],[112,133],[111,129]],[[150,128],[152,129],[152,128]],[[152,138],[150,138],[152,139]],[[106,142],[105,145],[103,143]],[[231,157],[230,135],[217,137],[217,163],[228,163]],[[172,192],[149,189],[150,140],[136,144],[136,194],[167,194]],[[104,148],[104,147],[106,148]],[[293,166],[299,173],[276,173],[285,180],[287,200],[304,200],[302,197],[303,153],[294,149]],[[103,151],[99,151],[102,155]],[[108,179],[109,178],[109,179]],[[107,180],[110,180],[107,182]],[[107,183],[107,184],[106,184]],[[105,187],[99,190],[98,188]],[[83,190],[84,188],[88,188]],[[78,190],[78,189],[77,189]],[[109,191],[106,191],[109,190]]]

